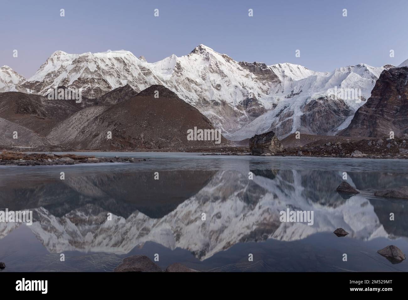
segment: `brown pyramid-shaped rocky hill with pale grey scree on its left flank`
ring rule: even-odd
[[[169,89],[153,85],[117,104],[82,109],[58,124],[47,138],[74,149],[105,151],[217,146],[214,141],[188,141],[187,130],[194,127],[214,129],[196,108]],[[219,146],[229,144],[222,138]]]

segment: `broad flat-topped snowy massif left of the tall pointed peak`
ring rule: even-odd
[[[124,50],[82,54],[56,51],[23,86],[41,95],[58,86],[82,88],[82,95],[88,98],[126,84],[141,91],[158,81],[145,65]]]

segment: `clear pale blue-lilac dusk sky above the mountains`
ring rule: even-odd
[[[0,66],[29,78],[57,50],[124,49],[156,62],[199,44],[314,71],[398,65],[408,58],[407,13],[407,0],[0,0]]]

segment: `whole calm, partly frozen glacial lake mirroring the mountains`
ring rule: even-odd
[[[113,271],[137,254],[158,254],[162,269],[408,271],[377,253],[393,244],[408,255],[408,200],[372,196],[408,186],[408,160],[75,154],[146,161],[0,166],[0,210],[33,211],[31,226],[0,223],[2,272]],[[360,194],[336,192],[343,172]],[[313,211],[313,225],[281,222],[286,209]]]

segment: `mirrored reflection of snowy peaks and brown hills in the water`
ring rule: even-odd
[[[242,242],[302,240],[343,228],[348,238],[406,237],[404,202],[363,192],[347,199],[337,171],[259,169],[102,173],[5,187],[0,207],[33,209],[29,229],[50,253],[126,254],[146,242],[199,260]],[[248,172],[254,179],[248,179]],[[360,190],[406,185],[405,174],[349,173]],[[279,221],[279,211],[314,211],[314,224]],[[396,215],[389,220],[389,213]],[[107,220],[112,213],[113,220]],[[206,220],[202,220],[206,213]],[[0,238],[18,226],[0,223]],[[0,240],[1,242],[1,240]]]

